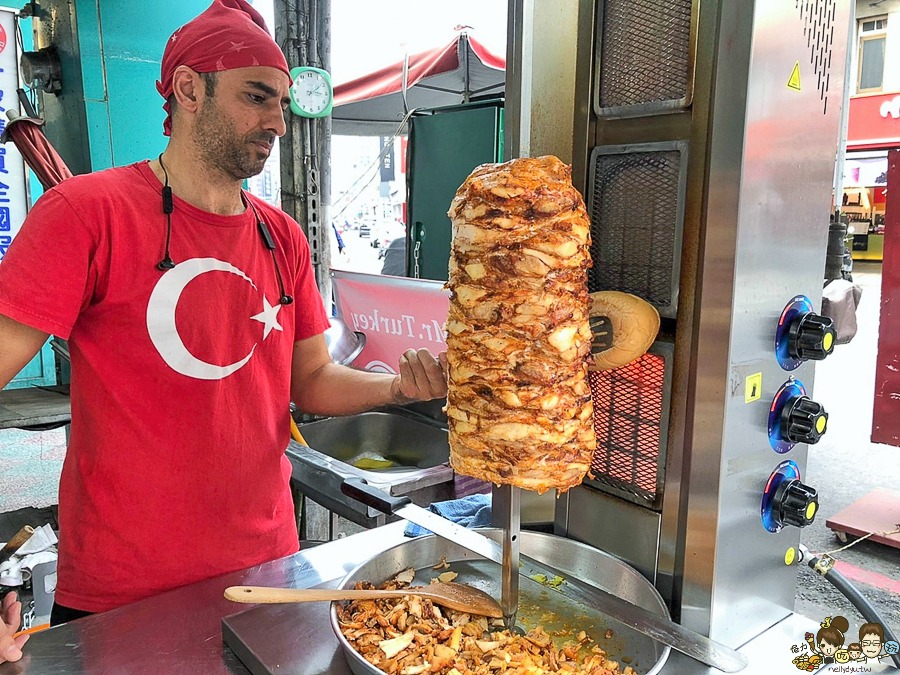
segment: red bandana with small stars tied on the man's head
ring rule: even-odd
[[[172,76],[178,66],[188,66],[198,73],[270,66],[291,76],[284,54],[269,35],[266,22],[245,0],[214,0],[203,14],[172,33],[166,43],[161,81],[156,83],[156,90],[167,100],[163,106],[166,136],[172,133],[168,98],[172,95]]]

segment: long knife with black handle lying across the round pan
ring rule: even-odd
[[[436,513],[416,506],[409,497],[389,495],[372,487],[362,478],[346,478],[341,484],[341,492],[384,514],[400,516],[427,528],[439,537],[448,539],[498,565],[503,565],[503,548],[500,544],[475,530],[462,527]],[[526,577],[534,577],[537,574],[562,577],[565,580],[565,591],[561,592],[569,598],[599,610],[639,633],[668,645],[701,663],[726,673],[736,673],[747,667],[747,657],[726,645],[710,640],[664,616],[592,586],[552,565],[547,565],[524,554],[520,555],[520,559],[522,561],[519,567],[520,574]]]

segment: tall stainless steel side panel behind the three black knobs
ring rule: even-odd
[[[807,447],[776,453],[767,421],[790,375],[811,393],[813,366],[783,370],[774,337],[792,297],[821,299],[847,19],[835,0],[721,5],[681,618],[734,646],[794,606],[785,553],[799,530],[773,534],[760,511],[780,462],[802,480]],[[762,396],[747,402],[757,373]]]

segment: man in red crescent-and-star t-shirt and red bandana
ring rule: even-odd
[[[53,623],[296,552],[291,400],[446,394],[426,350],[396,376],[333,364],[302,230],[241,190],[285,131],[288,73],[262,18],[216,0],[167,44],[165,152],[50,190],[0,264],[0,388],[49,334],[71,354]],[[21,656],[13,602],[0,662]]]

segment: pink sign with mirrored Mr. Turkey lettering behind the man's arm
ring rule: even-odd
[[[353,366],[396,373],[407,349],[438,354],[447,348],[444,322],[450,291],[441,281],[332,270],[338,315],[366,346]]]

